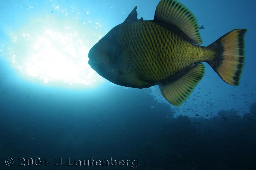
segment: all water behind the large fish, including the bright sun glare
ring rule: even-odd
[[[180,0],[204,25],[203,46],[248,29],[237,87],[205,64],[194,92],[174,107],[158,86],[124,88],[88,66],[90,48],[136,5],[138,18],[151,20],[158,2],[1,2],[0,169],[255,169],[254,1]],[[67,158],[89,166],[67,166]]]

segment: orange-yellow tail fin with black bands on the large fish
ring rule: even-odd
[[[244,35],[246,29],[235,29],[220,37],[207,48],[215,51],[215,58],[208,60],[215,72],[230,85],[239,85],[244,67]]]

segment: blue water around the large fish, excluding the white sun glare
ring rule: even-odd
[[[138,159],[137,169],[147,170],[254,169],[256,3],[180,2],[194,13],[200,26],[204,25],[205,29],[200,31],[203,46],[232,29],[248,29],[245,66],[238,87],[224,83],[207,65],[203,80],[191,95],[194,99],[176,108],[158,102],[163,100],[158,87],[125,89],[105,82],[93,89],[74,89],[28,81],[12,68],[6,59],[8,54],[4,53],[0,56],[0,169],[45,168],[18,167],[20,157],[48,157],[50,165],[45,169],[70,168],[53,166],[54,157]],[[90,15],[81,15],[76,22],[82,25],[89,17],[110,31],[122,23],[136,5],[138,18],[153,19],[157,4],[158,0],[3,1],[0,45],[5,45],[1,48],[6,50],[6,46],[12,44],[10,33],[45,11],[53,10],[60,19],[75,17],[76,11],[82,14],[89,11]],[[66,9],[69,15],[54,10],[53,5]],[[33,8],[28,10],[24,6]],[[73,13],[71,6],[75,9]],[[173,118],[173,114],[183,116]],[[5,166],[4,160],[8,157],[15,160],[15,165]],[[104,167],[73,167],[82,168]],[[131,166],[107,168],[129,169]]]

